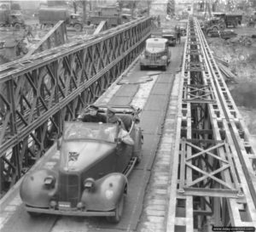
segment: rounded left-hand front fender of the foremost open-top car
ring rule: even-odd
[[[20,198],[30,207],[49,207],[49,201],[55,195],[57,184],[46,185],[45,178],[57,179],[57,173],[42,169],[27,173],[20,184]]]

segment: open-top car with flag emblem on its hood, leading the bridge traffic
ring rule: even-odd
[[[100,107],[102,112],[106,109]],[[58,149],[47,160],[48,165],[26,173],[20,185],[27,212],[32,216],[106,216],[119,222],[127,176],[140,160],[143,135],[139,110],[131,106],[114,109],[134,144],[121,141],[119,131],[124,128],[115,123],[65,122]]]

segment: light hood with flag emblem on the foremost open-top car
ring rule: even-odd
[[[112,154],[116,144],[99,141],[65,141],[61,144],[61,170],[79,172]]]

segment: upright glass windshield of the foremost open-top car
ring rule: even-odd
[[[93,122],[65,122],[63,139],[88,139],[114,142],[117,133],[116,124]]]

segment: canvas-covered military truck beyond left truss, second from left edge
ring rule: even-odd
[[[83,21],[79,14],[70,14],[66,8],[41,8],[38,11],[39,23],[44,26],[53,26],[64,20],[67,26],[76,31],[83,30]]]

